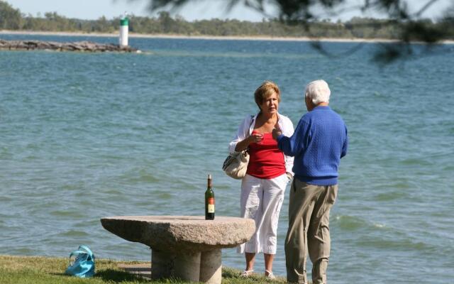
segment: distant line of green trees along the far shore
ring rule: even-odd
[[[220,20],[217,18],[202,21],[185,21],[181,16],[170,16],[161,11],[157,17],[129,16],[129,31],[142,34],[167,35],[218,35],[218,36],[272,36],[272,37],[311,37],[311,38],[402,38],[402,30],[408,23],[396,20],[375,18],[352,18],[350,21],[279,21],[278,19],[249,22]],[[0,0],[0,30],[9,31],[50,31],[82,33],[115,33],[120,18],[81,20],[66,18],[55,12],[44,16],[21,13],[10,4]],[[433,30],[436,38],[454,39],[454,24],[450,19],[433,22],[422,19],[412,22],[426,30]],[[442,35],[436,33],[443,31]],[[430,36],[431,33],[428,33]],[[411,34],[409,40],[412,40]],[[417,38],[417,37],[415,37]],[[429,40],[430,42],[430,40]]]

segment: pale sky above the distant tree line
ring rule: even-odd
[[[22,13],[30,13],[32,16],[44,16],[45,12],[57,12],[60,16],[79,19],[97,19],[101,16],[111,19],[123,15],[124,12],[135,16],[156,16],[147,11],[147,0],[3,0],[11,4],[13,8],[20,9]],[[414,9],[421,9],[428,0],[406,0]],[[177,14],[187,21],[195,21],[211,18],[236,18],[240,21],[262,21],[264,16],[253,9],[236,6],[230,12],[223,9],[222,5],[214,4],[215,0],[199,0],[195,4],[185,6]],[[348,6],[364,3],[364,0],[348,0]],[[453,4],[453,0],[438,0],[424,14],[425,18],[436,19],[443,15],[443,11]],[[415,10],[414,10],[415,11]],[[270,16],[277,16],[272,6],[267,6]],[[173,13],[175,15],[175,13]],[[341,16],[321,14],[321,18],[331,18],[333,21],[341,19],[347,21],[353,16],[370,16],[383,18],[380,13],[361,14],[358,11],[344,11]]]

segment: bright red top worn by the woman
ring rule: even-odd
[[[253,131],[253,134],[258,131]],[[284,153],[277,148],[277,141],[271,133],[264,133],[260,143],[249,145],[248,175],[270,180],[285,173]]]

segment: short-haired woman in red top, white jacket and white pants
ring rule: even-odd
[[[284,155],[272,138],[277,128],[285,136],[292,136],[292,121],[277,112],[281,95],[273,82],[263,82],[255,90],[255,103],[260,111],[247,116],[240,124],[236,137],[229,145],[231,153],[248,149],[250,160],[248,170],[241,182],[241,216],[255,220],[255,234],[238,248],[245,253],[244,277],[254,271],[255,254],[263,253],[265,276],[275,278],[272,261],[276,254],[277,222],[284,200],[287,183],[292,179],[293,158]]]

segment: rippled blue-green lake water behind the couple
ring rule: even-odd
[[[1,254],[67,257],[87,244],[99,258],[149,261],[145,245],[109,233],[99,219],[202,215],[208,173],[216,214],[238,216],[240,182],[221,164],[241,119],[257,111],[255,88],[277,82],[279,111],[296,125],[304,84],[323,78],[350,136],[331,213],[329,282],[453,283],[453,45],[384,68],[370,62],[375,44],[341,58],[304,42],[131,45],[145,52],[0,51]],[[287,208],[288,194],[277,275],[285,275]],[[223,250],[223,263],[244,266],[235,249]],[[262,266],[260,255],[255,271]]]

